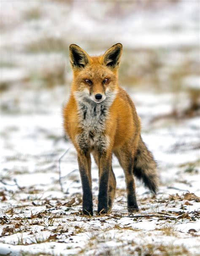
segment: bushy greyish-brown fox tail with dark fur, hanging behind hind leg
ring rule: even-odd
[[[138,150],[134,159],[133,174],[139,180],[142,180],[144,185],[156,194],[158,189],[158,173],[157,165],[153,155],[144,144],[140,137]]]

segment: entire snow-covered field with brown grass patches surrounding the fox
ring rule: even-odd
[[[156,11],[126,6],[120,18],[117,5],[72,2],[1,3],[0,255],[200,255],[200,119],[189,108],[200,88],[198,1]],[[130,215],[113,158],[113,209],[85,217],[76,151],[62,129],[71,79],[65,50],[80,42],[98,52],[118,41],[120,80],[157,160],[159,192],[137,181],[140,211]],[[92,180],[97,210],[94,163]]]

